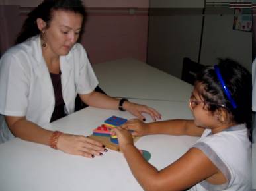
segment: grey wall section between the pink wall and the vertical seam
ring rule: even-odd
[[[202,9],[151,9],[147,63],[181,77],[183,57],[197,61]]]

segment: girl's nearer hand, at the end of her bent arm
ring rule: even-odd
[[[116,134],[118,138],[118,143],[121,151],[123,151],[126,146],[134,144],[132,134],[128,130],[117,126],[116,128],[113,128],[112,132],[114,132],[114,134]]]

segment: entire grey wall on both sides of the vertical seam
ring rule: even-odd
[[[252,33],[232,29],[233,11],[206,9],[200,63],[214,65],[217,57],[230,57],[251,71]],[[149,15],[147,62],[181,78],[183,57],[198,61],[202,9],[153,8],[152,12],[158,14]]]

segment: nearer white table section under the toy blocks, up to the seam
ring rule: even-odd
[[[163,114],[163,119],[192,117],[185,102],[133,101],[155,107]],[[89,135],[111,115],[132,118],[127,112],[87,107],[49,124],[47,128]],[[150,121],[149,116],[146,119]],[[197,139],[189,136],[145,136],[136,142],[136,146],[149,151],[149,162],[162,169],[181,157]],[[102,157],[87,159],[15,138],[0,144],[0,161],[0,190],[142,190],[122,153],[112,150]]]

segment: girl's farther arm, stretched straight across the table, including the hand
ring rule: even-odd
[[[172,119],[168,121],[157,121],[153,123],[143,123],[138,119],[131,119],[122,125],[122,128],[134,130],[134,136],[144,136],[148,134],[170,134],[201,136],[204,128],[194,124],[192,120]]]

